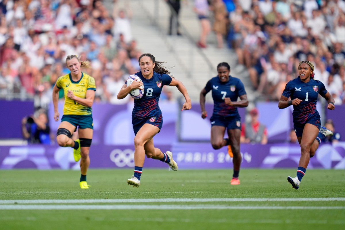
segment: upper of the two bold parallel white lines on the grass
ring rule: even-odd
[[[0,204],[85,204],[85,203],[152,203],[152,202],[276,202],[276,201],[345,201],[329,198],[162,198],[162,199],[88,199],[88,200],[0,200]]]

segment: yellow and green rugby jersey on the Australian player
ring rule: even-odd
[[[64,115],[91,115],[91,107],[78,104],[74,100],[67,97],[68,90],[71,90],[74,95],[80,98],[86,98],[86,90],[91,89],[96,91],[95,79],[87,74],[81,73],[81,78],[78,82],[72,80],[71,74],[61,76],[56,81],[56,86],[63,89],[65,94],[65,106],[63,107]]]

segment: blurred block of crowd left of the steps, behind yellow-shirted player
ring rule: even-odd
[[[83,71],[96,80],[95,101],[126,103],[117,93],[140,69],[141,52],[130,8],[116,3],[109,13],[100,0],[2,0],[0,97],[33,98],[36,108],[48,109],[57,78],[69,73],[66,57],[75,54],[91,61]]]

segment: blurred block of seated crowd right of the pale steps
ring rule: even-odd
[[[309,60],[315,79],[345,103],[345,1],[225,0],[229,46],[238,55],[237,70],[248,69],[258,95],[279,100],[286,83]]]

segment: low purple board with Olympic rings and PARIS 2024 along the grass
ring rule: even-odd
[[[223,147],[214,150],[209,143],[175,143],[156,145],[163,152],[172,151],[179,170],[232,168],[232,158]],[[242,168],[296,168],[300,157],[298,144],[242,144]],[[90,168],[134,168],[133,145],[92,145]],[[168,168],[158,160],[145,159],[144,167]],[[0,169],[32,168],[75,169],[79,163],[73,160],[73,149],[52,145],[0,146]],[[322,144],[308,169],[345,169],[345,142]]]

